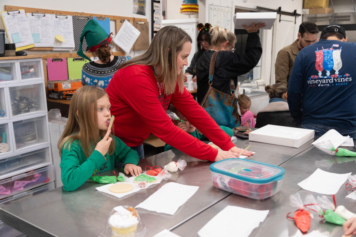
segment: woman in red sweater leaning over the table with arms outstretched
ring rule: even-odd
[[[111,114],[115,115],[115,136],[136,150],[140,158],[143,158],[143,140],[150,133],[201,160],[238,157],[242,151],[184,88],[182,70],[188,65],[191,43],[192,39],[182,29],[163,27],[144,54],[120,65],[106,88]],[[169,102],[223,151],[175,126],[166,113]]]

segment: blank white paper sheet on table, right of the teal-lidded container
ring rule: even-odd
[[[335,174],[318,168],[312,175],[298,183],[298,185],[305,190],[315,193],[336,194],[350,174]]]

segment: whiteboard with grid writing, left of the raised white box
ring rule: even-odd
[[[232,7],[209,4],[209,23],[232,29]]]

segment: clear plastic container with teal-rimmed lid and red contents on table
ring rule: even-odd
[[[231,158],[210,165],[215,187],[252,199],[278,193],[284,169],[257,161]]]

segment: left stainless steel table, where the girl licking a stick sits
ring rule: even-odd
[[[278,165],[307,149],[311,142],[298,149],[242,139],[236,141],[236,144],[244,148],[250,144],[251,150],[256,152],[253,160]],[[140,166],[144,169],[146,165],[165,165],[178,158],[187,161],[187,167],[173,173],[171,180],[162,181],[121,199],[96,191],[95,187],[102,184],[86,182],[74,192],[57,188],[7,204],[0,208],[0,219],[28,236],[98,236],[104,230],[109,211],[115,206],[136,206],[171,181],[199,186],[197,193],[173,216],[138,209],[142,222],[148,227],[146,236],[153,236],[164,229],[181,225],[230,195],[212,185],[209,169],[211,162],[192,158],[178,150],[148,157],[140,161]]]

